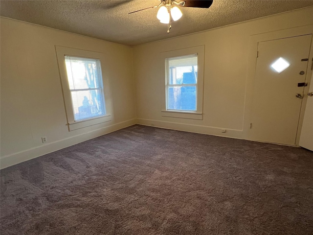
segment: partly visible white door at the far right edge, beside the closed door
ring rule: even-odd
[[[304,94],[306,95],[306,94]],[[313,74],[305,108],[299,145],[313,151]]]

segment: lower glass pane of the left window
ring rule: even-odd
[[[75,120],[106,114],[101,90],[72,91],[71,96]]]

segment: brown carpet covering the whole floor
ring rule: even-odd
[[[1,170],[1,235],[312,235],[313,152],[134,125]]]

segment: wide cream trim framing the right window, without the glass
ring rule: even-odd
[[[166,71],[166,59],[171,57],[178,57],[184,55],[198,54],[198,78],[197,78],[197,110],[196,111],[179,111],[179,110],[167,110],[166,109],[166,82],[167,82],[167,71]],[[188,118],[202,120],[202,108],[203,108],[203,77],[204,77],[204,45],[197,47],[188,47],[178,50],[165,51],[160,53],[161,63],[161,79],[164,81],[163,87],[163,100],[162,100],[162,117],[171,118]]]

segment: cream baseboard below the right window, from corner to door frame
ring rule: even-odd
[[[193,124],[185,124],[185,123],[169,122],[169,121],[158,121],[158,120],[142,119],[142,118],[137,118],[136,123],[140,125],[145,125],[145,126],[155,126],[155,127],[177,130],[177,131],[186,131],[186,132],[193,132],[193,133],[206,134],[206,135],[212,135],[212,136],[222,136],[222,137],[228,137],[228,138],[234,138],[234,139],[244,139],[243,130],[227,129],[223,127],[218,128],[218,127],[211,127],[211,126],[193,125]],[[225,133],[222,133],[223,129],[226,130]]]

